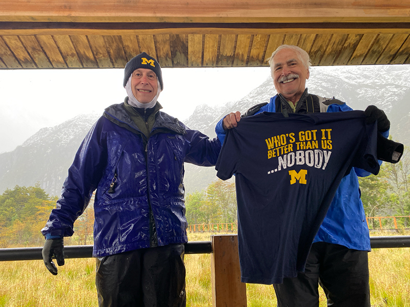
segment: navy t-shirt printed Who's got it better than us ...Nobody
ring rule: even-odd
[[[303,272],[341,179],[352,167],[378,173],[377,126],[364,118],[263,112],[228,131],[216,169],[222,180],[235,174],[242,282]]]

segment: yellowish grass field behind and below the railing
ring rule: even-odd
[[[190,234],[190,240],[210,240],[210,234]],[[211,255],[186,255],[185,260],[187,306],[212,307]],[[375,249],[369,262],[372,305],[410,306],[410,249]],[[42,260],[0,262],[0,306],[97,306],[94,273],[92,258],[66,259],[57,276]],[[272,286],[247,284],[247,297],[249,307],[276,306]],[[322,292],[320,306],[326,306]]]

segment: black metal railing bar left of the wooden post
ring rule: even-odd
[[[1,248],[0,261],[41,260],[43,247]],[[185,254],[211,254],[211,241],[194,241],[185,244]],[[91,258],[92,245],[69,245],[64,247],[64,256],[69,258]]]

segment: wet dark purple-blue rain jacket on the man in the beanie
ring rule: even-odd
[[[150,206],[158,246],[188,242],[183,163],[214,166],[221,148],[216,138],[163,112],[146,140],[123,105],[108,107],[85,137],[42,229],[46,238],[73,235],[74,221],[97,189],[95,257],[150,247]]]

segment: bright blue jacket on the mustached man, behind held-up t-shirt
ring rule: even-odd
[[[275,95],[270,102],[262,106],[261,112],[276,112],[276,103],[280,103],[279,96]],[[344,104],[331,104],[326,112],[345,112],[353,109]],[[222,119],[223,120],[223,119]],[[216,127],[216,134],[223,143],[226,131],[222,128],[222,120]],[[382,133],[388,137],[388,130]],[[381,161],[379,161],[381,164]],[[370,236],[362,201],[360,200],[359,177],[369,176],[370,172],[359,168],[352,168],[351,172],[343,177],[336,191],[335,197],[314,239],[315,242],[327,242],[343,245],[350,249],[370,251]]]

